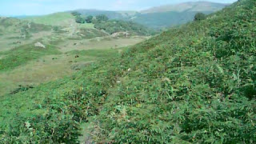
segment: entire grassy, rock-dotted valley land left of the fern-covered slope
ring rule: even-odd
[[[40,18],[52,22],[52,18],[60,15],[62,13]],[[74,74],[82,66],[105,58],[104,54],[111,58],[123,47],[147,38],[131,34],[126,37],[122,33],[110,35],[95,29],[93,24],[75,22],[73,16],[70,22],[66,22],[66,18],[61,18],[59,26],[0,18],[0,97]],[[51,24],[54,25],[54,21]],[[42,46],[36,46],[38,44]],[[73,50],[81,54],[70,54]],[[82,50],[88,54],[82,54]]]

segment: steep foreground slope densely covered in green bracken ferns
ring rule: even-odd
[[[2,143],[255,143],[256,2],[0,98]]]

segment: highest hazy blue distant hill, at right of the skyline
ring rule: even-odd
[[[154,29],[178,26],[191,22],[198,12],[211,14],[222,10],[228,4],[214,2],[184,2],[177,5],[166,5],[142,10],[134,16],[133,21]]]

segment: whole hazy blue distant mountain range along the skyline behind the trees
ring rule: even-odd
[[[133,21],[155,30],[178,26],[193,20],[198,12],[211,14],[230,4],[216,2],[184,2],[175,5],[152,7],[142,11],[110,11],[110,10],[73,10],[83,15],[106,14],[110,19]],[[67,11],[70,13],[71,11]],[[37,16],[35,16],[37,17]],[[18,16],[16,18],[26,18]]]

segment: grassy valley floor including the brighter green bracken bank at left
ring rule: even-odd
[[[34,43],[0,53],[0,96],[22,86],[38,86],[73,74],[87,63],[112,58],[125,46],[145,38],[68,40],[34,47]],[[82,44],[81,44],[82,42]],[[74,46],[74,43],[78,43]],[[79,58],[75,58],[78,55]]]

